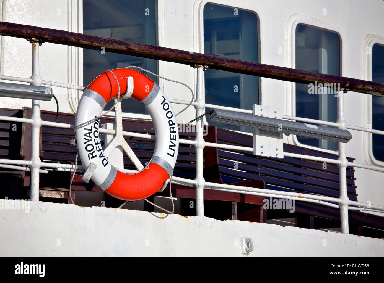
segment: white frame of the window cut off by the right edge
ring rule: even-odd
[[[384,37],[369,34],[363,44],[363,79],[372,81],[372,49],[374,44],[384,46]],[[370,50],[370,52],[367,52]],[[364,121],[362,127],[371,125],[372,129],[372,95],[363,95],[363,115]],[[373,139],[372,133],[363,132],[363,148],[365,161],[369,165],[384,167],[384,161],[378,160],[373,155]]]

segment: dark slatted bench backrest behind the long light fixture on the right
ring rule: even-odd
[[[213,130],[212,130],[213,131]],[[211,132],[211,131],[210,131]],[[237,132],[217,129],[218,143],[230,143],[238,146],[253,147],[252,136]],[[308,156],[337,159],[337,155],[306,149],[304,147],[284,144],[284,152]],[[220,176],[224,182],[235,182],[247,179],[262,179],[266,188],[274,190],[294,191],[298,193],[314,193],[324,196],[339,197],[339,168],[334,164],[306,159],[284,157],[254,156],[252,152],[237,150],[218,150]],[[233,168],[233,157],[236,156],[238,169]],[[349,162],[353,158],[347,157]],[[326,169],[324,166],[326,166]],[[354,184],[354,169],[347,167],[348,198],[357,200]]]

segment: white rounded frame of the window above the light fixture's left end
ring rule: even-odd
[[[197,30],[197,32],[199,32],[198,33],[199,46],[195,46],[197,47],[197,49],[195,50],[199,50],[198,52],[204,54],[204,7],[206,4],[219,5],[219,6],[228,7],[228,8],[238,8],[239,10],[251,12],[255,15],[256,21],[257,21],[257,31],[256,31],[257,32],[257,58],[258,58],[257,63],[260,63],[261,56],[262,56],[261,45],[260,45],[260,38],[261,38],[261,28],[260,28],[261,20],[259,17],[260,12],[257,11],[253,5],[248,5],[247,3],[241,3],[241,4],[237,3],[239,4],[238,6],[233,6],[234,4],[233,1],[228,1],[228,0],[195,0],[194,10],[196,10],[197,7],[199,9],[199,13],[198,13],[199,17],[196,17],[198,20],[197,26],[199,27],[199,30]],[[262,77],[258,77],[258,96],[259,96],[258,97],[259,104],[262,105]],[[204,93],[204,97],[205,97],[205,93]],[[208,124],[206,121],[205,123]],[[237,131],[237,132],[242,132],[242,131]]]

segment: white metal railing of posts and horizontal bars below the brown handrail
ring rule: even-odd
[[[75,90],[84,90],[83,86],[79,85],[72,85],[72,84],[62,84],[57,82],[50,82],[46,80],[42,80],[39,73],[39,43],[38,42],[31,42],[32,44],[32,54],[33,54],[33,67],[32,67],[32,76],[31,78],[22,78],[22,77],[12,77],[12,76],[5,76],[0,75],[0,80],[12,80],[12,81],[18,81],[18,82],[27,82],[32,85],[55,85],[66,89],[75,89]],[[235,112],[241,112],[241,113],[248,113],[252,114],[252,110],[246,110],[246,109],[238,109],[233,107],[224,107],[220,105],[213,105],[213,104],[206,104],[205,98],[204,98],[204,66],[198,65],[196,67],[197,69],[197,89],[196,89],[196,100],[192,102],[192,105],[195,107],[196,110],[196,117],[204,114],[204,108],[217,108],[217,109],[223,109],[223,110],[230,110]],[[340,129],[353,129],[356,131],[364,131],[364,132],[371,132],[374,134],[380,134],[384,135],[384,131],[378,131],[374,129],[367,129],[364,127],[358,127],[358,126],[352,126],[347,125],[344,121],[344,109],[343,109],[343,90],[339,90],[338,93],[338,122],[328,122],[328,121],[321,121],[321,120],[314,120],[314,119],[307,119],[302,117],[295,117],[295,116],[288,116],[283,115],[283,119],[288,120],[294,120],[294,121],[302,121],[302,122],[310,122],[315,124],[322,124],[322,125],[328,125],[328,126],[334,126],[338,127]],[[171,103],[175,104],[189,104],[190,101],[186,100],[179,100],[179,99],[169,99]],[[121,121],[121,107],[116,108],[115,112],[116,118],[120,119]],[[13,122],[23,122],[23,123],[29,123],[32,127],[31,132],[31,159],[30,160],[12,160],[12,159],[0,159],[0,164],[9,164],[10,166],[13,165],[21,165],[21,166],[29,166],[31,168],[31,200],[32,201],[38,201],[39,199],[39,180],[40,180],[40,173],[46,173],[45,170],[41,170],[40,167],[46,167],[46,168],[57,168],[59,171],[74,171],[74,165],[71,164],[60,164],[60,163],[53,163],[53,162],[42,162],[39,158],[40,155],[40,127],[41,126],[48,126],[48,127],[58,127],[58,128],[64,128],[64,129],[73,129],[74,125],[71,124],[65,124],[65,123],[58,123],[58,122],[51,122],[51,121],[42,121],[40,117],[40,101],[38,100],[32,100],[32,115],[30,119],[26,118],[19,118],[19,117],[8,117],[8,116],[0,116],[0,120],[2,121],[13,121]],[[324,206],[332,207],[332,208],[339,208],[341,213],[341,232],[342,233],[349,233],[348,228],[348,209],[349,210],[361,210],[361,211],[375,211],[375,212],[384,212],[384,206],[374,205],[370,203],[361,203],[358,201],[351,201],[348,199],[347,195],[347,176],[346,176],[346,167],[347,166],[353,166],[353,167],[359,167],[359,168],[365,168],[365,169],[371,169],[375,171],[384,172],[384,167],[379,166],[371,166],[367,164],[359,164],[359,163],[353,163],[348,162],[346,159],[346,152],[345,152],[345,144],[339,142],[339,151],[338,151],[338,159],[329,159],[329,158],[322,158],[322,157],[316,157],[316,156],[308,156],[303,154],[295,154],[295,153],[288,153],[285,152],[285,157],[294,157],[294,158],[305,158],[307,160],[312,161],[319,161],[319,162],[328,162],[332,164],[337,164],[339,167],[339,177],[340,177],[340,196],[339,198],[333,198],[329,196],[320,196],[315,194],[301,194],[301,193],[294,193],[289,191],[277,191],[277,190],[270,190],[270,189],[258,189],[258,188],[252,188],[252,187],[242,187],[242,186],[234,186],[229,184],[218,184],[218,183],[212,183],[212,182],[206,182],[203,176],[203,150],[205,146],[208,147],[217,147],[220,149],[228,149],[228,150],[241,150],[241,151],[248,151],[253,152],[253,147],[246,147],[246,146],[235,146],[231,144],[217,144],[212,142],[205,142],[203,138],[203,126],[204,126],[204,120],[203,117],[198,119],[196,121],[195,126],[195,140],[187,140],[187,139],[180,139],[179,142],[182,144],[189,144],[194,145],[196,148],[196,178],[195,179],[185,179],[185,178],[179,178],[179,177],[173,177],[172,183],[175,184],[182,184],[189,187],[195,187],[196,188],[196,215],[198,216],[204,216],[204,189],[212,189],[212,190],[218,190],[218,191],[230,191],[230,192],[236,192],[236,193],[244,193],[244,194],[253,194],[257,196],[268,196],[268,197],[275,197],[275,198],[283,198],[283,199],[294,199],[295,201],[304,201],[304,202],[310,202],[310,203],[317,203]],[[111,129],[102,129],[100,128],[99,131],[104,134],[112,134],[116,135],[115,130]],[[144,139],[153,139],[154,135],[151,134],[141,134],[136,132],[128,132],[128,131],[120,131],[121,136],[133,136],[133,137],[140,137]],[[128,155],[131,158],[132,151],[130,151],[130,154]],[[136,157],[136,156],[135,156]],[[137,158],[137,157],[136,157]],[[15,168],[15,167],[13,167]],[[124,168],[118,168],[122,172],[126,173],[136,173],[136,170],[127,170]],[[21,169],[20,170],[24,170]],[[78,166],[79,171],[85,171],[84,167]],[[43,172],[44,171],[44,172]]]

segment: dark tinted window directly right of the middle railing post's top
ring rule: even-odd
[[[235,7],[207,3],[204,6],[204,53],[258,62],[256,15]],[[258,77],[208,69],[205,72],[205,102],[252,110],[259,104]],[[227,129],[250,128],[210,123]]]

